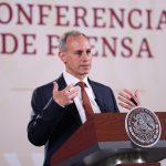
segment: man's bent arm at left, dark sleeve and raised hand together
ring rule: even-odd
[[[73,97],[77,95],[77,90],[73,85],[66,86],[64,90],[59,91],[58,84],[53,82],[52,93],[46,96],[48,91],[37,89],[32,95],[32,115],[28,125],[29,141],[37,145],[42,146],[48,141],[50,135],[62,120],[65,112],[65,106],[73,103]]]

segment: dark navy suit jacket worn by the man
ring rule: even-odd
[[[59,90],[66,86],[63,75],[55,80]],[[118,112],[112,90],[89,80],[96,103],[102,112]],[[65,107],[52,98],[53,82],[34,90],[32,114],[28,124],[28,138],[35,146],[45,145],[44,166],[50,165],[52,154],[81,126],[81,118],[75,104]]]

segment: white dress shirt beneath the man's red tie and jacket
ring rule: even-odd
[[[65,80],[65,82],[66,82],[68,85],[70,85],[70,84],[76,84],[77,82],[80,82],[79,79],[74,77],[73,75],[71,75],[66,71],[63,71],[63,76],[64,76],[64,80]],[[93,112],[94,113],[101,113],[100,107],[98,107],[98,105],[95,102],[95,96],[94,96],[93,90],[92,90],[92,87],[91,87],[91,85],[90,85],[90,83],[87,81],[87,76],[84,77],[83,82],[86,84],[85,91],[86,91],[87,96],[90,98]],[[79,89],[79,94],[77,94],[76,97],[74,97],[74,103],[75,103],[76,108],[79,111],[81,121],[82,121],[82,123],[84,123],[86,121],[86,116],[85,116],[84,107],[82,105],[81,87],[79,85],[75,86],[75,87]]]

